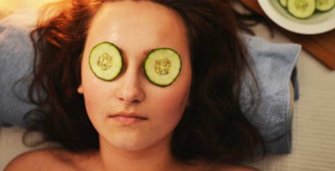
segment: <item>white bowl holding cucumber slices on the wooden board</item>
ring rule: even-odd
[[[335,8],[302,20],[290,15],[278,0],[258,0],[258,3],[273,22],[297,34],[322,34],[335,28]]]

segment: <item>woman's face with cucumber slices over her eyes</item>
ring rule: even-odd
[[[103,41],[123,53],[124,68],[111,82],[100,80],[89,68],[91,48]],[[147,53],[158,47],[169,47],[181,57],[180,74],[168,87],[149,82],[142,69]],[[188,103],[190,60],[186,28],[173,10],[150,1],[105,3],[89,28],[78,88],[101,140],[126,150],[169,140]],[[110,117],[117,112],[135,112],[147,119],[121,124]]]

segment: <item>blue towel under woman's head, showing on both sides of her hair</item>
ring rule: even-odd
[[[0,126],[25,126],[24,113],[34,105],[23,103],[15,96],[27,97],[28,77],[12,89],[13,84],[24,75],[31,73],[34,50],[29,31],[34,28],[37,13],[24,10],[0,21]],[[260,84],[260,105],[255,114],[246,117],[259,130],[267,141],[271,153],[290,151],[290,88],[288,87],[292,70],[300,52],[295,44],[274,44],[254,36],[243,35],[253,70]],[[296,80],[297,81],[297,80]],[[251,84],[250,74],[246,73],[244,89],[241,92],[241,106],[246,110]],[[297,82],[296,84],[297,85]],[[298,89],[296,91],[299,91]],[[298,94],[299,92],[296,92]]]

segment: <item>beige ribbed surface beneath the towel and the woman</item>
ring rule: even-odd
[[[13,6],[4,5],[4,1],[0,1],[0,10],[3,6],[9,11],[39,6],[39,4],[19,3],[19,0],[12,1]],[[253,27],[253,30],[257,36],[271,42],[290,43],[288,38],[276,31],[271,38],[269,31],[262,24]],[[294,105],[292,154],[270,155],[265,160],[251,165],[260,170],[333,171],[335,170],[335,71],[322,66],[304,50],[297,61],[297,68],[300,99]],[[22,128],[0,128],[0,170],[3,170],[8,161],[18,154],[31,150],[24,147],[21,142],[23,131]]]

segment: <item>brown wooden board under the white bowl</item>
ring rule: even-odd
[[[241,0],[251,10],[267,17],[257,0]],[[267,17],[268,18],[268,17]],[[268,18],[269,19],[269,18]],[[274,22],[272,22],[274,23]],[[335,70],[335,29],[324,34],[303,35],[287,31],[274,24],[276,29],[295,43],[302,45],[306,52],[322,62],[327,68]]]

